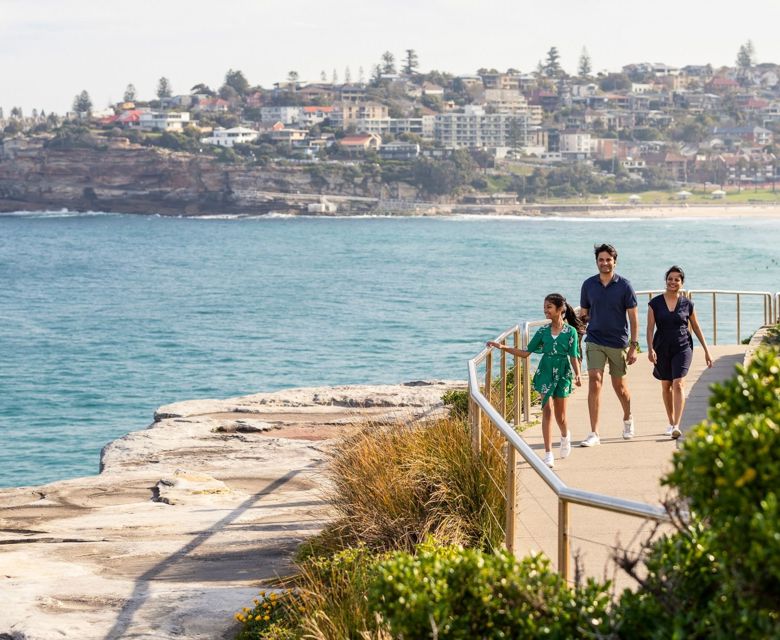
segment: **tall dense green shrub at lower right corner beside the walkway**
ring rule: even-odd
[[[780,352],[713,386],[663,483],[687,525],[656,542],[615,613],[625,638],[780,637]]]

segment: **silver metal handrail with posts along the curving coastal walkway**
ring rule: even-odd
[[[638,291],[637,295],[648,295],[660,293],[660,291]],[[717,307],[716,297],[718,295],[735,295],[737,298],[737,339],[740,338],[741,325],[741,305],[742,296],[761,296],[764,301],[764,324],[771,324],[780,321],[780,292],[771,293],[763,291],[729,291],[697,289],[688,290],[686,295],[707,295],[713,297],[713,344],[717,344]],[[523,330],[520,331],[519,325],[515,325],[501,333],[495,342],[506,343],[509,336],[514,337],[514,346],[525,349],[528,346],[530,329],[535,326],[547,324],[549,320],[534,320],[523,323]],[[469,360],[469,424],[472,430],[472,443],[475,450],[481,448],[482,433],[482,415],[484,414],[488,421],[501,433],[506,439],[508,447],[506,450],[507,482],[506,482],[506,529],[505,543],[507,549],[512,552],[518,550],[516,540],[516,514],[517,514],[517,478],[515,467],[517,454],[537,473],[537,475],[547,484],[555,493],[558,499],[558,572],[565,580],[570,579],[569,564],[569,506],[577,504],[585,507],[613,511],[628,516],[635,516],[655,522],[670,522],[669,514],[660,506],[625,500],[606,494],[585,491],[567,486],[552,470],[550,470],[542,460],[533,452],[525,440],[515,431],[515,429],[506,421],[504,403],[506,401],[506,353],[501,352],[501,389],[502,389],[502,412],[491,404],[490,396],[492,394],[492,349],[485,348],[477,356]],[[477,378],[477,364],[485,362],[485,394],[480,390]],[[521,376],[518,376],[518,367],[522,367]],[[515,386],[514,386],[514,422],[520,424],[520,411],[518,403],[518,392],[522,379],[523,389],[523,420],[530,422],[531,405],[531,385],[530,385],[530,367],[527,359],[519,362],[515,356]],[[503,414],[503,415],[502,415]]]

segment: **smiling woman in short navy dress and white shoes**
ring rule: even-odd
[[[678,266],[666,272],[666,291],[650,301],[647,309],[647,357],[655,367],[653,376],[661,381],[669,427],[666,435],[676,439],[682,434],[680,419],[685,407],[683,379],[693,359],[691,329],[704,348],[707,366],[712,358],[693,309],[693,302],[682,295],[685,273]]]

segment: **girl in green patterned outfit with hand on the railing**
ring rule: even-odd
[[[489,347],[527,358],[541,353],[542,359],[534,374],[533,385],[542,396],[542,437],[544,462],[551,469],[555,465],[552,453],[552,416],[561,431],[560,456],[571,453],[571,434],[566,423],[566,398],[572,384],[582,385],[580,379],[580,340],[585,329],[574,309],[560,293],[551,293],[544,299],[544,317],[550,324],[540,327],[528,343],[528,349],[515,349],[498,342]],[[552,402],[549,400],[552,399]]]

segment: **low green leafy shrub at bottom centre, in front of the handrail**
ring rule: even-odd
[[[374,574],[369,606],[394,638],[596,638],[609,628],[608,585],[571,588],[542,555],[426,541]]]

